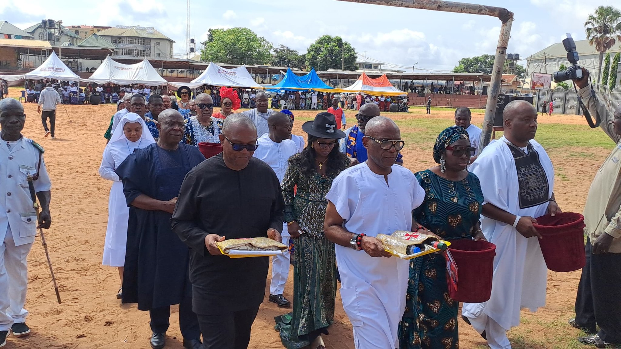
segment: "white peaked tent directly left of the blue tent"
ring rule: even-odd
[[[215,64],[214,62],[209,63],[207,66],[207,70],[205,70],[201,76],[190,81],[189,83],[178,83],[178,82],[169,82],[171,86],[175,86],[176,88],[180,88],[181,86],[188,86],[189,88],[199,88],[202,85],[211,85],[211,86],[226,86],[233,88],[254,88],[254,89],[263,89],[263,87],[256,83],[255,79],[250,76],[248,70],[245,66],[240,66],[238,68],[226,69],[221,66]]]

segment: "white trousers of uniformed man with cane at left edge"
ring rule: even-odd
[[[28,289],[26,258],[32,243],[16,246],[11,226],[0,246],[0,331],[11,329],[14,323],[25,322],[24,309]]]

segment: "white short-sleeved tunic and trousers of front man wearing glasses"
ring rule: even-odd
[[[412,210],[425,191],[414,174],[392,166],[388,184],[366,162],[340,173],[326,198],[345,219],[345,229],[375,237],[412,229]],[[396,257],[371,257],[364,251],[336,245],[340,294],[353,326],[356,349],[397,348],[397,328],[406,308],[409,262]]]

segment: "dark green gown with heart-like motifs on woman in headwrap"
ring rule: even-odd
[[[412,212],[414,219],[443,240],[471,238],[483,205],[479,178],[468,173],[454,182],[430,170],[416,178],[425,189],[425,201]],[[459,302],[448,294],[445,263],[444,256],[435,253],[410,260],[400,349],[459,349]]]

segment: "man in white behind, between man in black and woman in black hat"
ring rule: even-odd
[[[289,167],[289,158],[297,153],[296,143],[289,139],[291,135],[291,119],[286,114],[274,112],[268,118],[270,132],[256,140],[259,145],[252,156],[263,160],[276,173],[278,181],[283,184],[284,173]],[[289,245],[291,235],[287,224],[283,222],[283,243]],[[279,306],[288,307],[291,302],[283,296],[284,285],[289,277],[289,250],[272,258],[272,279],[270,283],[269,301]]]

